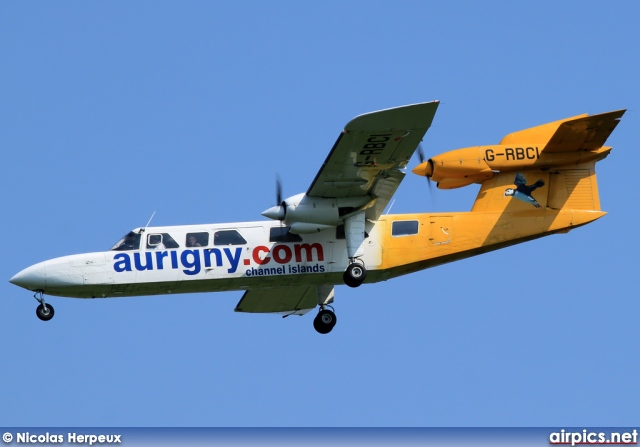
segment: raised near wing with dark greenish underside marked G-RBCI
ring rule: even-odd
[[[424,137],[438,101],[366,113],[351,120],[333,145],[307,196],[376,199],[367,219],[377,219],[404,178],[404,168]]]

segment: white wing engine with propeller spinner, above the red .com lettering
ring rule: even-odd
[[[370,197],[323,198],[301,193],[263,211],[262,215],[290,226],[292,233],[308,234],[337,227],[371,203]]]

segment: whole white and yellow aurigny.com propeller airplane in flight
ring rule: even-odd
[[[595,165],[625,110],[578,115],[456,149],[412,171],[440,189],[479,184],[467,212],[383,214],[439,102],[357,116],[306,193],[241,223],[136,228],[110,250],[25,268],[10,282],[45,295],[116,298],[244,290],[236,312],[304,315],[336,325],[335,286],[358,287],[570,230],[604,216]]]

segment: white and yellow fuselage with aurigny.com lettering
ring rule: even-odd
[[[385,215],[367,225],[361,257],[368,271],[365,282],[567,231],[602,215],[550,209]],[[294,235],[286,229],[273,222],[136,229],[129,234],[140,234],[138,248],[114,247],[51,259],[19,272],[11,282],[73,298],[343,284],[348,261],[339,230]],[[194,234],[202,243],[186,246]],[[221,234],[232,237],[217,241]],[[154,245],[161,240],[164,243]],[[177,246],[168,247],[173,244]]]

